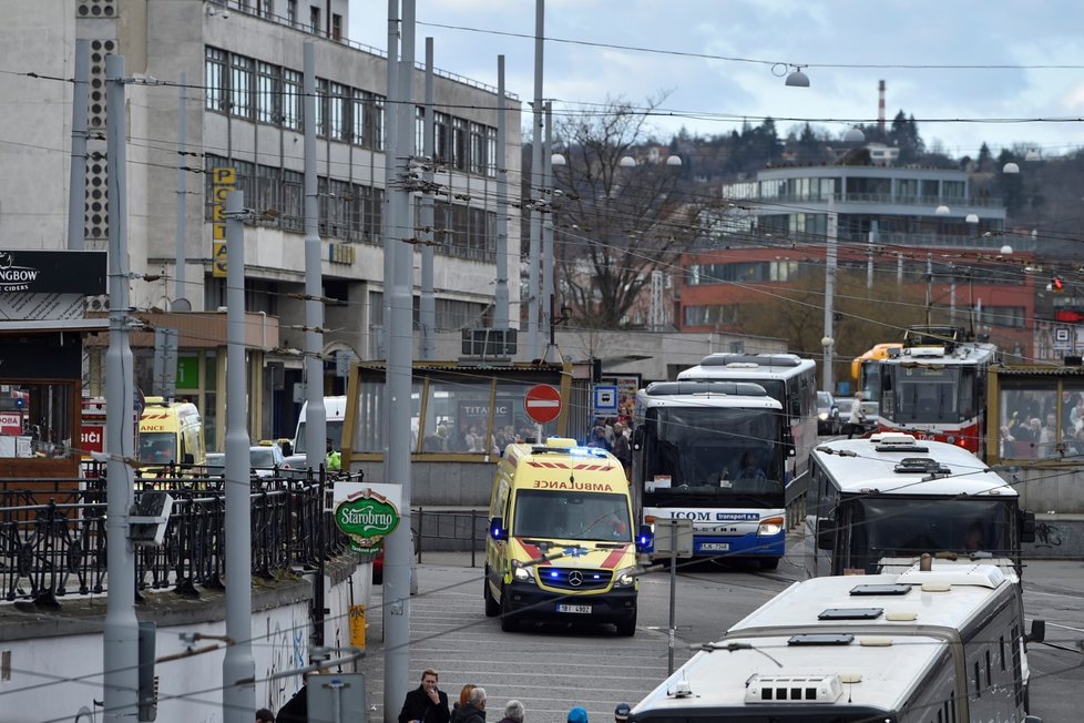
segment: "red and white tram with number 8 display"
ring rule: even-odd
[[[986,369],[994,345],[963,329],[912,326],[880,363],[877,428],[959,445],[985,459]]]

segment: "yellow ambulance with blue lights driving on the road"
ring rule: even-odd
[[[501,629],[526,620],[613,623],[636,632],[637,552],[617,458],[573,439],[509,445],[497,466],[485,542],[485,614]]]

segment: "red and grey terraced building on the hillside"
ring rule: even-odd
[[[983,327],[1006,352],[1031,358],[1036,289],[1020,259],[1036,240],[1006,233],[1004,205],[972,193],[963,171],[767,169],[723,195],[733,211],[683,259],[682,330],[742,330],[746,305],[824,279],[835,213],[840,268],[909,285],[939,322]],[[869,342],[882,340],[892,339]]]

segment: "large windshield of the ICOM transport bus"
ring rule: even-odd
[[[774,409],[659,407],[644,434],[644,502],[777,507],[780,419]]]

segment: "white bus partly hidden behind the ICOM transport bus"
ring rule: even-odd
[[[678,380],[751,381],[783,405],[795,455],[787,462],[787,509],[800,507],[806,465],[817,444],[817,364],[795,354],[712,354],[678,373]],[[792,518],[794,522],[797,519]]]

